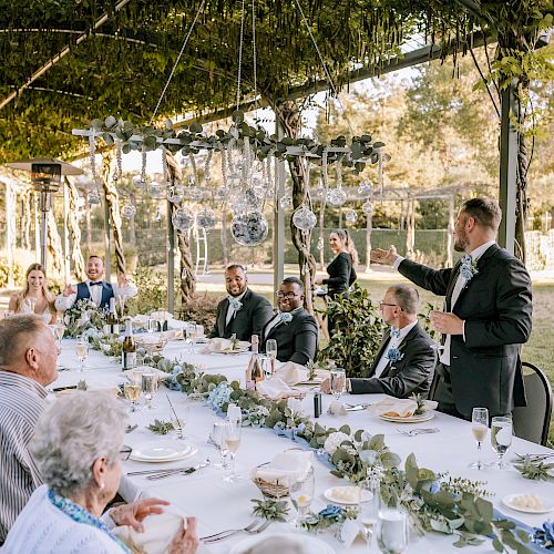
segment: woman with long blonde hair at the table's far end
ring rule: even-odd
[[[8,309],[14,314],[37,314],[47,325],[55,324],[55,296],[50,293],[44,269],[31,264],[25,273],[25,287],[13,293]]]

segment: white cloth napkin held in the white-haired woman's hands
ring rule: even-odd
[[[121,525],[112,533],[123,541],[134,553],[166,554],[177,531],[183,526],[181,515],[164,512],[146,516],[142,524],[144,532],[138,533],[130,525]]]

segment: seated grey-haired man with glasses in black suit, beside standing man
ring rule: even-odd
[[[381,316],[390,330],[384,334],[368,377],[347,379],[347,390],[353,394],[384,392],[391,397],[427,398],[437,361],[432,340],[418,322],[418,291],[410,285],[392,285],[382,302]],[[329,392],[329,379],[321,383]]]

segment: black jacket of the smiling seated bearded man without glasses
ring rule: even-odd
[[[208,338],[215,337],[228,339],[233,334],[238,340],[250,340],[253,335],[261,335],[261,329],[271,319],[274,310],[267,298],[264,298],[250,289],[247,289],[243,299],[243,307],[235,312],[229,325],[225,325],[229,300],[223,299],[217,305],[217,316],[214,328]]]

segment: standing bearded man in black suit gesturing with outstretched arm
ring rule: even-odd
[[[463,258],[449,269],[431,269],[398,256],[396,248],[371,253],[404,277],[445,296],[445,310],[432,311],[444,336],[435,394],[439,409],[471,419],[473,408],[491,417],[525,406],[520,348],[531,335],[531,279],[523,264],[496,245],[502,212],[496,202],[466,201],[458,215],[454,248]]]

